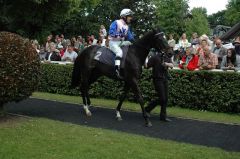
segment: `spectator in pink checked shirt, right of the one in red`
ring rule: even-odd
[[[198,61],[199,70],[212,70],[218,65],[218,58],[214,53],[211,53],[208,46],[203,48],[203,54],[200,55]]]

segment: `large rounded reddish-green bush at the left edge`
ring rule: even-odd
[[[40,63],[30,41],[0,32],[0,107],[29,97],[37,88]]]

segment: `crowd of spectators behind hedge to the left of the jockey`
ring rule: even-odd
[[[81,51],[91,45],[109,47],[107,31],[103,25],[99,29],[99,38],[94,35],[83,38],[74,36],[71,39],[65,39],[64,35],[49,35],[43,45],[39,45],[36,40],[32,41],[33,47],[37,50],[42,62],[50,63],[51,61],[74,62]]]

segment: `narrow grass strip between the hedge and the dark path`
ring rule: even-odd
[[[60,102],[67,103],[75,103],[81,104],[82,99],[77,96],[67,96],[67,95],[59,95],[59,94],[50,94],[50,93],[42,93],[35,92],[32,97],[46,100],[54,100]],[[106,108],[116,108],[117,102],[116,100],[108,100],[108,99],[91,99],[92,105],[101,106]],[[131,110],[140,112],[140,106],[136,103],[124,102],[123,110]],[[153,113],[159,114],[160,108],[156,108]],[[169,116],[174,117],[182,117],[182,118],[191,118],[203,121],[212,121],[212,122],[221,122],[227,124],[240,124],[240,115],[239,114],[226,114],[226,113],[216,113],[216,112],[208,112],[208,111],[196,111],[190,109],[184,109],[179,107],[169,107],[167,108],[167,112]]]

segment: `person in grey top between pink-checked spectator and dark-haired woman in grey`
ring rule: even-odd
[[[223,56],[227,55],[227,49],[223,47],[222,41],[220,39],[215,40],[215,47],[213,48],[213,53],[218,57],[217,69],[220,69]]]

